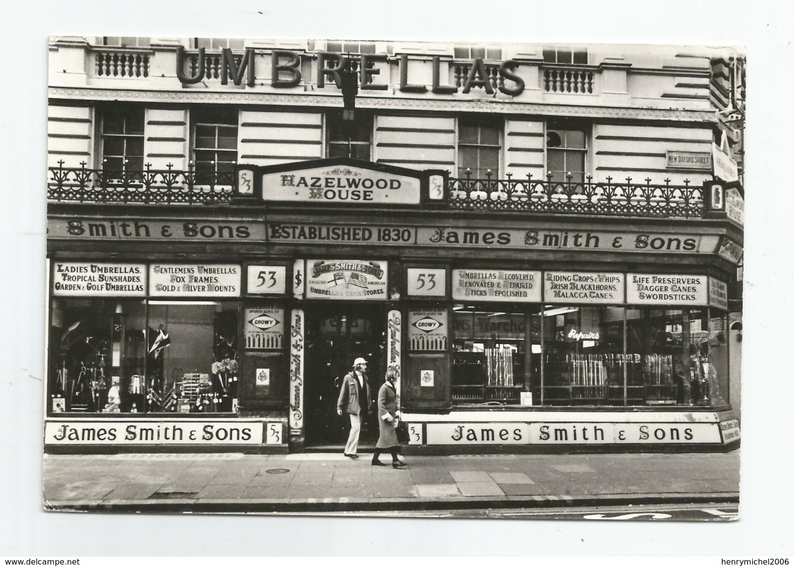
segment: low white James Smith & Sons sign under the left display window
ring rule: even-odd
[[[265,423],[267,424],[267,423]],[[262,421],[48,421],[45,445],[260,445]]]

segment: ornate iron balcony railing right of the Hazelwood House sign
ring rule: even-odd
[[[515,210],[552,214],[603,214],[608,216],[703,217],[700,187],[613,183],[557,183],[551,177],[533,179],[449,179],[449,205],[463,210]]]

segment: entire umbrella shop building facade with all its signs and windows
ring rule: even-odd
[[[333,449],[359,356],[415,452],[738,446],[716,55],[115,39],[51,44],[45,449]]]

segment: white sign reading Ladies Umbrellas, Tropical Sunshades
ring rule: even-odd
[[[145,264],[55,262],[52,295],[57,297],[140,297],[146,295]]]

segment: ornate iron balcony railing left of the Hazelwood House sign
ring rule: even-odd
[[[108,171],[49,167],[47,198],[56,202],[221,204],[230,202],[232,172],[153,170]]]

